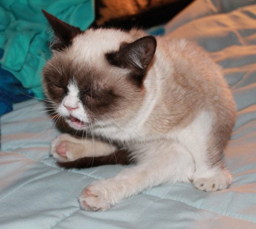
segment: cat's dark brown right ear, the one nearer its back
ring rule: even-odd
[[[137,76],[143,76],[156,47],[156,38],[145,36],[132,43],[121,44],[119,51],[107,53],[106,58],[112,65],[130,68]]]

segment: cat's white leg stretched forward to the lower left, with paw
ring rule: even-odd
[[[188,181],[195,171],[193,158],[179,144],[153,143],[140,156],[137,166],[126,168],[115,177],[94,181],[86,187],[79,197],[81,208],[105,211],[146,188],[167,181]]]

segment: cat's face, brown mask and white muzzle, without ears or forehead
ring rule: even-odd
[[[70,126],[82,129],[95,121],[121,122],[134,115],[142,103],[143,89],[129,74],[108,62],[102,71],[66,57],[54,55],[44,67],[43,82],[47,97]]]

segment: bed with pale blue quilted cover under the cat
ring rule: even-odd
[[[232,185],[203,192],[191,184],[143,191],[109,211],[87,212],[77,197],[123,166],[65,170],[49,156],[60,131],[44,101],[15,103],[1,117],[0,228],[256,228],[256,2],[197,0],[149,32],[197,42],[223,67],[237,106],[224,151]]]

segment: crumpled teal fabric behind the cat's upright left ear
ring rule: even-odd
[[[0,60],[35,97],[44,97],[41,70],[50,57],[48,22],[41,9],[69,24],[86,30],[94,20],[93,0],[1,0],[0,48],[5,50]]]

